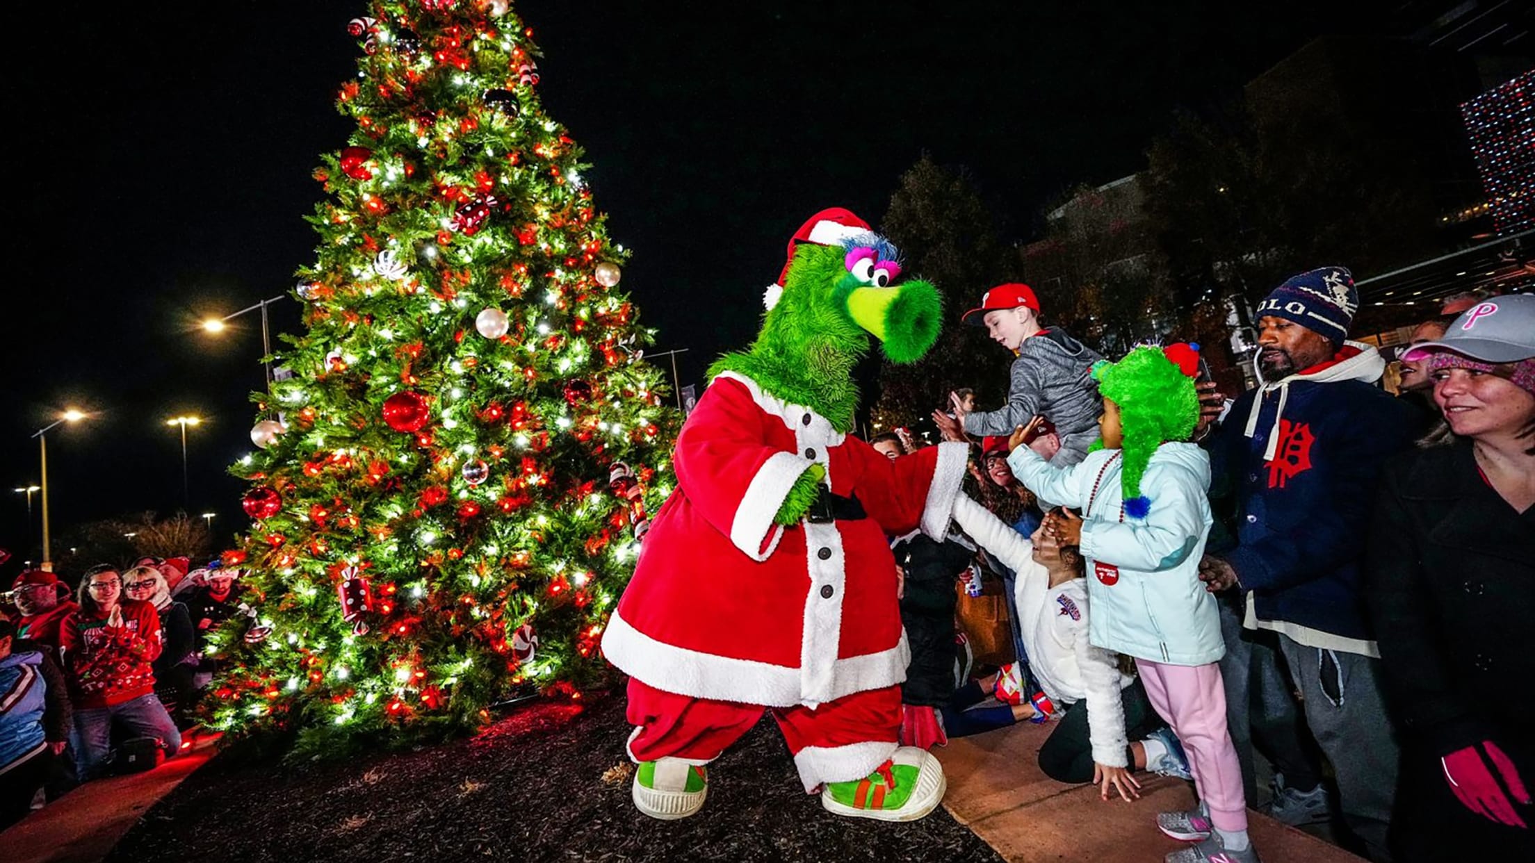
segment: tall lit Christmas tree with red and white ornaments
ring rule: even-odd
[[[348,31],[358,127],[315,172],[307,332],[233,468],[244,605],[206,702],[327,746],[579,697],[675,428],[510,3],[375,0]]]

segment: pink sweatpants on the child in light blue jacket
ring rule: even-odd
[[[1226,732],[1226,689],[1220,666],[1167,665],[1136,659],[1151,706],[1173,726],[1188,752],[1194,789],[1210,806],[1210,822],[1228,832],[1246,829],[1242,768]]]

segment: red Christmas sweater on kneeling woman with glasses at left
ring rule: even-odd
[[[124,599],[123,625],[84,608],[64,619],[60,650],[75,708],[109,708],[155,691],[152,663],[160,656],[160,616],[155,607]]]

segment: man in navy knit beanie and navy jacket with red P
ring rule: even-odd
[[[1354,276],[1335,266],[1291,276],[1259,306],[1260,385],[1210,439],[1211,488],[1236,498],[1236,547],[1207,556],[1200,577],[1243,591],[1246,628],[1277,634],[1343,820],[1386,860],[1397,743],[1358,553],[1382,464],[1412,444],[1420,419],[1375,385],[1380,353],[1348,341],[1357,310]],[[1228,689],[1239,685],[1245,696],[1242,682]]]

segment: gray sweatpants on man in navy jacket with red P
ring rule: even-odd
[[[1305,646],[1279,636],[1305,702],[1306,725],[1332,762],[1343,822],[1377,863],[1389,861],[1386,828],[1400,749],[1380,696],[1380,660]]]

